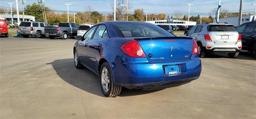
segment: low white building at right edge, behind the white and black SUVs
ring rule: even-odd
[[[253,15],[251,16],[242,16],[242,24],[246,22],[252,21]],[[254,18],[255,20],[255,18]],[[228,23],[228,24],[233,24],[234,26],[238,26],[238,17],[232,17],[232,18],[222,18],[219,19],[220,23]]]

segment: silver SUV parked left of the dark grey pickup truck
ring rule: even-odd
[[[44,37],[44,26],[50,26],[44,22],[21,22],[18,27],[19,34],[24,38],[28,36],[36,36],[36,38]]]

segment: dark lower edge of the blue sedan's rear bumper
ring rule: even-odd
[[[140,89],[140,90],[154,90],[154,89],[164,89],[168,87],[175,87],[179,85],[183,85],[198,79],[197,77],[190,77],[186,79],[179,79],[174,81],[161,81],[161,82],[153,82],[153,83],[137,83],[137,84],[125,84],[125,83],[115,83],[115,86],[126,87],[128,89]]]

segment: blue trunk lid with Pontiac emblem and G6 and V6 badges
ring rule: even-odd
[[[148,61],[186,60],[192,54],[193,40],[191,38],[155,37],[137,40]]]

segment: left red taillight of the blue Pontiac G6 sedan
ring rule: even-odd
[[[134,58],[146,58],[144,51],[136,40],[123,44],[120,49],[128,56]]]

